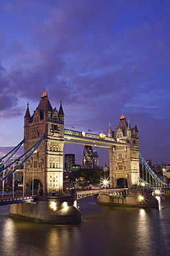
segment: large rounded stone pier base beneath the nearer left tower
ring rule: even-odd
[[[52,224],[79,224],[76,195],[39,196],[38,201],[10,205],[10,216]]]

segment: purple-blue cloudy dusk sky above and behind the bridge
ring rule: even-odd
[[[170,163],[169,10],[160,0],[0,0],[0,155],[23,139],[27,103],[32,115],[45,89],[52,107],[62,100],[66,129],[107,134],[123,113],[145,159]],[[82,163],[83,145],[67,153]]]

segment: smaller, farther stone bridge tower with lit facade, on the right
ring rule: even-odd
[[[125,116],[121,116],[116,131],[111,131],[109,125],[108,136],[129,141],[128,146],[109,149],[110,187],[132,188],[140,177],[138,128],[136,124],[131,128],[129,120],[127,123]]]

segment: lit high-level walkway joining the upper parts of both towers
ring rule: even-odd
[[[130,145],[129,140],[110,138],[103,133],[96,135],[85,133],[85,131],[73,131],[69,129],[64,129],[64,142],[107,148],[116,146],[125,147]]]

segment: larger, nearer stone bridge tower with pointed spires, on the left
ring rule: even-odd
[[[27,152],[43,135],[45,139],[25,162],[25,192],[36,194],[43,191],[45,196],[61,195],[63,192],[64,113],[62,103],[59,112],[56,108],[52,109],[45,91],[33,115],[30,116],[29,106],[26,110],[24,152]]]

